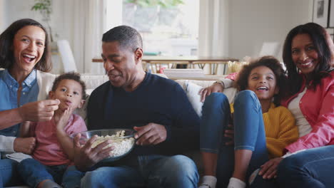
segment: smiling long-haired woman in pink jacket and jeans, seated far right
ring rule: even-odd
[[[300,138],[259,172],[263,179],[277,177],[280,187],[334,187],[333,47],[317,23],[297,26],[285,39],[290,92],[283,105],[295,116]]]

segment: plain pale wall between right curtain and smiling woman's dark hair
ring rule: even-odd
[[[265,41],[283,45],[290,29],[312,21],[312,6],[313,0],[230,0],[229,56],[258,56]]]

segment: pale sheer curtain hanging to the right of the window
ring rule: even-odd
[[[228,56],[228,24],[228,0],[200,1],[199,56]],[[218,67],[218,74],[222,72]]]

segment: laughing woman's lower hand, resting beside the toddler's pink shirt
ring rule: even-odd
[[[16,137],[14,140],[14,151],[31,155],[36,146],[35,137]]]

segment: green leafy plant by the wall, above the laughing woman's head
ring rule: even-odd
[[[52,0],[35,0],[35,1],[36,3],[31,7],[31,11],[39,11],[39,13],[43,16],[43,21],[46,21],[46,23],[48,24],[51,42],[53,42],[54,38],[52,37],[52,30],[49,24],[50,15],[52,13],[52,4],[51,4]]]

